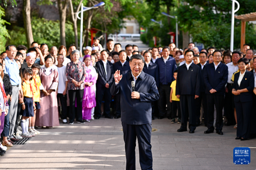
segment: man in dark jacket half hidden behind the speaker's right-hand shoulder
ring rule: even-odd
[[[152,77],[154,77],[155,81],[156,81],[156,87],[159,87],[159,74],[158,74],[158,65],[156,63],[153,63],[151,60],[152,54],[150,53],[150,51],[145,51],[144,52],[144,59],[145,59],[145,64],[143,67],[143,71],[144,73],[147,73],[149,75],[151,75]],[[152,106],[152,120],[154,120],[154,115],[158,115],[158,105],[157,105],[158,101],[153,101],[151,103]]]

